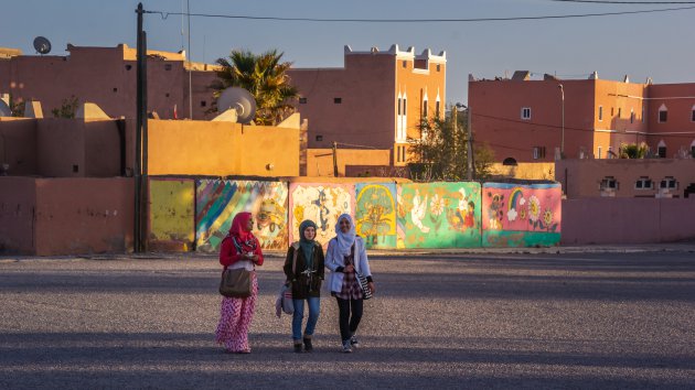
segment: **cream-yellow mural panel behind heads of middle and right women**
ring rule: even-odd
[[[324,247],[335,237],[335,223],[341,214],[353,215],[355,188],[353,184],[290,184],[290,241],[298,240],[299,224],[304,219],[318,226],[317,241]]]

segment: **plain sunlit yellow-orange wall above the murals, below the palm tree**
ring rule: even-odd
[[[148,133],[150,175],[299,175],[298,129],[149,120]]]

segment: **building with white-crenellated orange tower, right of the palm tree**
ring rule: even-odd
[[[391,150],[392,165],[405,165],[408,138],[421,137],[420,120],[443,116],[446,53],[415,54],[414,47],[400,51],[398,45],[385,52],[345,46],[344,53],[342,68],[289,71],[301,95],[297,110],[309,119],[308,148],[338,142]]]

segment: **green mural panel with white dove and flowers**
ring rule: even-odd
[[[480,247],[480,184],[397,186],[397,248]]]

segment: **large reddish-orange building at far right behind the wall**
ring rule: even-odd
[[[562,88],[560,88],[562,86]],[[655,85],[558,79],[528,72],[512,78],[469,78],[477,143],[495,159],[547,162],[617,158],[622,143],[646,142],[660,158],[695,155],[695,84]]]

